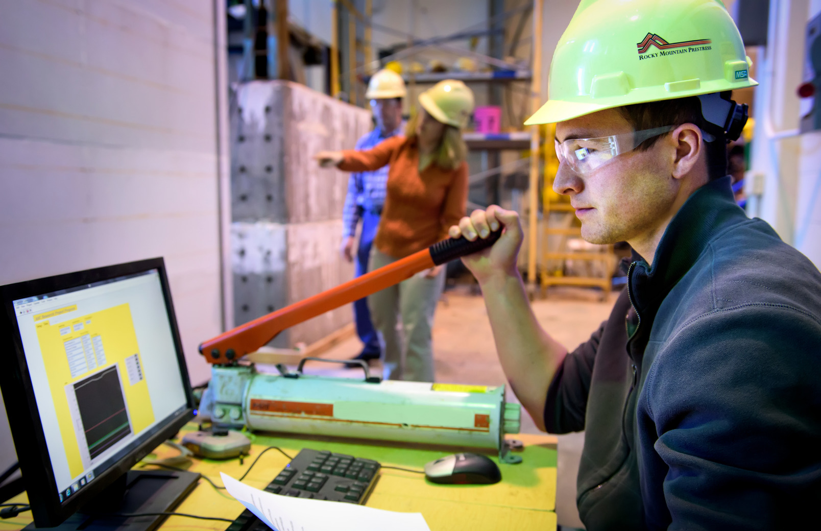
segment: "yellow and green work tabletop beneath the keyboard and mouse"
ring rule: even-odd
[[[190,425],[184,429],[191,429]],[[477,531],[482,529],[556,529],[556,437],[521,433],[509,438],[524,442],[519,465],[499,465],[502,481],[495,485],[438,485],[425,480],[424,474],[395,469],[381,469],[366,506],[401,512],[420,512],[431,531]],[[289,455],[302,448],[329,450],[377,460],[382,465],[422,469],[425,463],[443,455],[456,453],[443,446],[408,446],[390,442],[365,442],[330,437],[256,434],[251,455],[239,460],[195,460],[190,470],[200,472],[214,483],[222,484],[220,472],[240,478],[266,446],[279,446]],[[465,449],[465,451],[475,451]],[[173,451],[160,446],[156,455],[164,458]],[[489,454],[488,454],[489,455]],[[496,455],[491,455],[494,460]],[[251,469],[243,483],[264,488],[288,463],[287,457],[269,450]],[[147,465],[145,468],[156,468]],[[25,501],[25,493],[13,501]],[[233,519],[245,509],[224,490],[216,490],[200,480],[176,511],[202,516]],[[31,522],[24,512],[10,520],[0,520],[0,531],[21,529]],[[227,522],[169,517],[159,529],[227,529]]]

